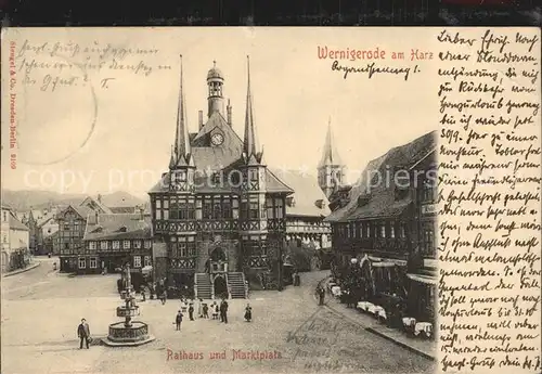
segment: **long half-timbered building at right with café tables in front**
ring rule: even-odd
[[[435,284],[436,143],[436,132],[429,132],[389,150],[367,164],[357,183],[332,196],[334,210],[325,220],[332,224],[335,270],[345,275],[360,266],[366,291],[379,302],[409,299],[409,280]],[[427,311],[434,288],[423,292]]]

